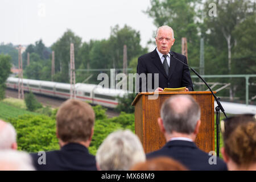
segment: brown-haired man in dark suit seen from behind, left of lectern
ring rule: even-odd
[[[65,101],[56,115],[56,135],[61,149],[31,154],[37,170],[97,170],[88,147],[92,140],[95,114],[79,100]]]

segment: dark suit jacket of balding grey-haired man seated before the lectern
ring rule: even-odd
[[[217,158],[216,164],[209,164],[209,156],[196,147],[196,144],[184,140],[172,140],[167,142],[160,150],[146,155],[147,159],[156,156],[167,156],[176,159],[190,170],[220,170],[226,171],[227,167],[223,160]],[[212,161],[212,160],[210,160]]]

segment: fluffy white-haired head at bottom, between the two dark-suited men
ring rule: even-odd
[[[141,141],[130,130],[110,134],[96,154],[97,167],[104,171],[129,170],[134,164],[145,160]]]

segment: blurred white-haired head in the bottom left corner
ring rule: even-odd
[[[29,154],[14,150],[0,150],[0,171],[34,171]]]

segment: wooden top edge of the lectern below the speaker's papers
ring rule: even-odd
[[[216,91],[213,91],[213,93],[216,93]],[[135,106],[137,101],[142,95],[154,95],[154,94],[159,94],[159,95],[168,95],[168,94],[212,94],[210,91],[187,91],[187,92],[140,92],[137,94],[137,96],[134,98],[133,102],[131,103],[132,106]]]

